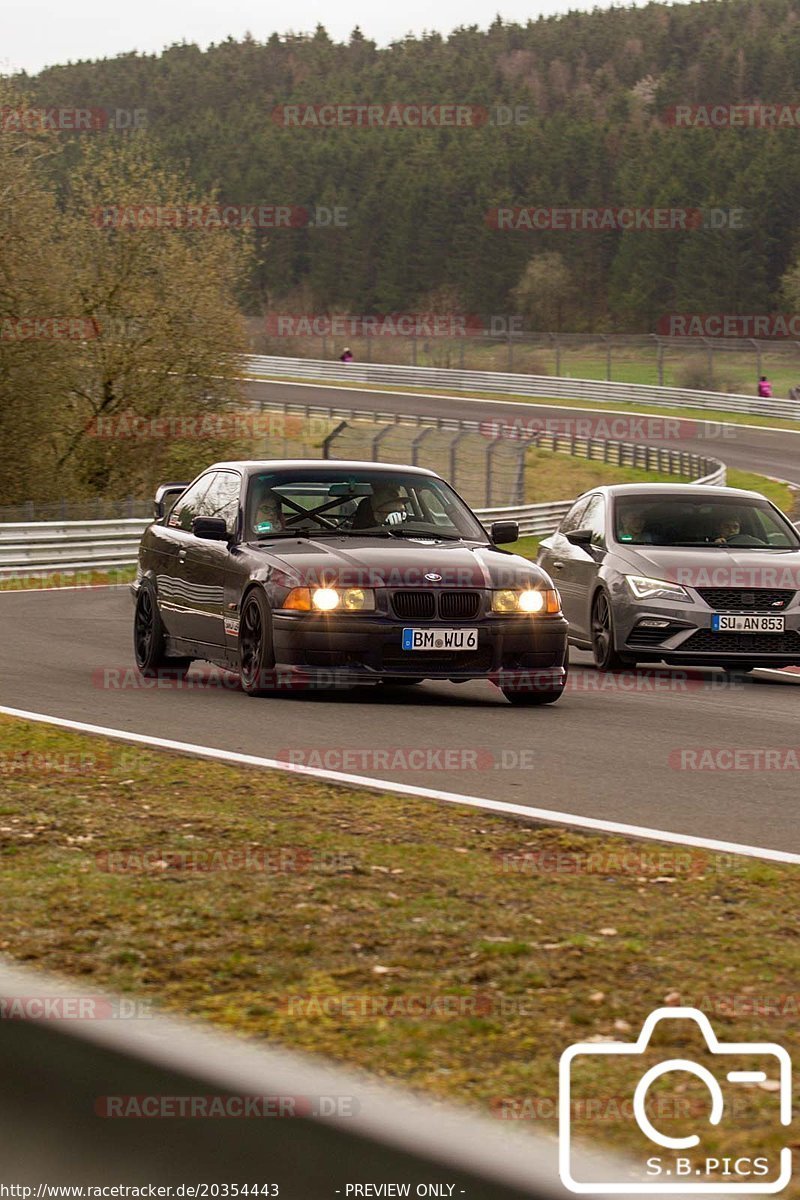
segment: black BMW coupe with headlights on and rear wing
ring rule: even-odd
[[[249,695],[489,679],[515,704],[566,680],[545,571],[439,475],[374,462],[221,462],[158,488],[132,584],[143,674],[196,659]]]

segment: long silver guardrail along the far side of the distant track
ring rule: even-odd
[[[504,396],[536,396],[546,400],[587,400],[596,403],[625,403],[693,408],[703,412],[748,413],[800,420],[800,404],[792,400],[760,400],[756,396],[660,388],[650,384],[565,379],[559,376],[510,374],[495,371],[462,371],[447,367],[408,367],[381,362],[329,362],[323,359],[290,359],[251,354],[245,358],[252,379],[293,378],[318,383],[383,384],[393,388],[445,389],[488,392]]]

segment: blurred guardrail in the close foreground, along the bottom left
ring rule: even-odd
[[[347,1184],[363,1180],[408,1183],[409,1195],[435,1181],[452,1190],[433,1194],[469,1200],[570,1195],[555,1139],[511,1134],[355,1072],[151,1015],[140,1000],[104,996],[85,982],[0,964],[0,1002],[4,1013],[13,1002],[23,1013],[41,1002],[52,1014],[0,1020],[2,1178],[32,1187],[34,1196],[47,1195],[37,1192],[47,1184],[120,1183],[145,1194],[148,1184],[247,1183],[266,1195],[261,1186],[276,1183],[282,1200],[344,1200]],[[125,1019],[126,1010],[144,1015]],[[178,1118],[178,1104],[191,1114],[192,1098],[198,1115]],[[229,1115],[204,1116],[211,1100]],[[246,1100],[273,1116],[231,1120]],[[144,1120],[122,1115],[128,1102]],[[146,1120],[162,1102],[170,1111]],[[630,1164],[604,1153],[578,1153],[578,1163],[582,1177],[597,1182],[631,1177]]]

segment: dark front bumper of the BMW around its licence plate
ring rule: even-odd
[[[474,650],[403,650],[409,626],[477,629]],[[383,613],[272,614],[278,670],[327,672],[342,682],[381,678],[485,679],[536,677],[535,686],[560,686],[566,678],[567,623],[563,617],[482,617],[470,622],[398,620]],[[540,678],[541,676],[541,678]]]

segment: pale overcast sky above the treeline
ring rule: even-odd
[[[499,12],[525,22],[569,8],[607,7],[608,0],[291,0],[285,6],[258,0],[0,0],[0,73],[40,71],[55,62],[100,59],[128,50],[161,50],[173,42],[205,47],[249,30],[258,41],[270,34],[311,31],[321,23],[336,41],[355,25],[379,44],[458,25],[481,29]]]

